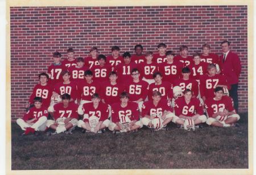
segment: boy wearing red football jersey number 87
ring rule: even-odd
[[[155,82],[153,79],[153,74],[158,72],[158,64],[156,62],[152,62],[153,53],[151,51],[145,53],[146,62],[141,62],[138,65],[139,72],[142,75],[142,80],[148,82],[148,84],[152,84]]]

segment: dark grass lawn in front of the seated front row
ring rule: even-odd
[[[13,123],[13,170],[25,169],[187,169],[248,168],[247,114],[240,127],[168,131],[20,136]],[[188,152],[191,151],[189,155]]]

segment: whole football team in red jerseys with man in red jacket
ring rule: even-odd
[[[39,74],[39,84],[27,104],[27,113],[16,120],[22,135],[47,131],[48,135],[82,132],[113,133],[137,131],[146,126],[152,131],[167,130],[174,122],[185,130],[207,123],[216,127],[238,126],[238,79],[241,62],[222,41],[223,54],[210,53],[204,44],[202,53],[188,56],[181,45],[180,54],[158,45],[158,53],[143,54],[135,45],[135,54],[77,57],[72,48],[67,59],[54,52],[47,73]]]

